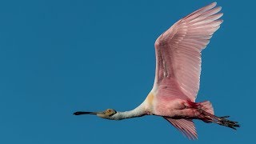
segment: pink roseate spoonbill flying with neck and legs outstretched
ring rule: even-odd
[[[238,122],[229,116],[214,115],[209,101],[195,102],[201,73],[201,51],[223,22],[222,7],[213,2],[174,23],[154,43],[156,72],[154,86],[146,99],[134,110],[120,112],[107,109],[100,112],[78,111],[74,115],[96,114],[100,118],[125,118],[155,115],[165,118],[187,138],[197,139],[193,119],[214,122],[234,130]]]

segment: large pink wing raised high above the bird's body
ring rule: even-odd
[[[222,23],[218,19],[223,15],[218,13],[222,8],[216,4],[194,11],[158,37],[154,44],[157,64],[153,90],[168,91],[171,97],[179,94],[194,102],[199,90],[201,51]]]

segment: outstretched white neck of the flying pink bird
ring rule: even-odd
[[[118,111],[116,114],[114,114],[110,118],[113,120],[122,120],[125,118],[142,117],[143,115],[146,115],[146,110],[143,105],[140,105],[136,107],[134,110],[124,111],[124,112]]]

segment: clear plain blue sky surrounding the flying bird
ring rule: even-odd
[[[188,143],[163,118],[109,121],[76,110],[131,110],[154,82],[154,41],[213,1],[1,1],[0,143]],[[255,142],[254,1],[218,1],[221,29],[202,52],[198,101],[235,131],[196,121],[198,141]]]

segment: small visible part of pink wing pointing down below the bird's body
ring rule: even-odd
[[[170,122],[174,127],[176,127],[179,131],[182,132],[187,138],[190,139],[198,139],[197,131],[195,130],[194,122],[190,119],[172,119],[165,118],[168,122]]]

